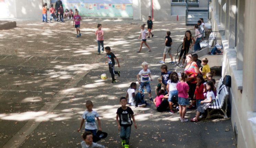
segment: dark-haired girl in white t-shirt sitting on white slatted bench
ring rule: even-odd
[[[209,82],[206,83],[206,89],[208,90],[207,98],[200,102],[201,105],[197,108],[196,117],[192,118],[190,120],[191,122],[198,122],[200,112],[203,113],[204,110],[211,104],[212,100],[215,99],[215,96],[214,96],[214,93],[213,93],[213,82],[212,81],[209,81]]]

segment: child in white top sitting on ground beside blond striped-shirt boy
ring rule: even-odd
[[[127,90],[126,99],[129,97],[129,104],[135,107],[145,107],[151,106],[144,100],[144,94],[142,92],[138,92],[135,95],[135,90],[137,88],[137,84],[132,82],[130,88]]]

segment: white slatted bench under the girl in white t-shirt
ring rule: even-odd
[[[227,88],[225,85],[222,85],[222,81],[223,79],[221,78],[218,84],[218,88],[217,89],[217,96],[215,98],[215,101],[213,101],[207,110],[207,117],[206,119],[210,119],[212,117],[215,116],[219,116],[219,117],[223,117],[223,118],[227,118],[227,99],[229,97],[229,92],[227,92]],[[220,88],[221,86],[221,88]],[[221,90],[221,92],[219,93],[219,91]],[[220,110],[222,111],[222,114],[217,113],[213,113],[216,110]]]

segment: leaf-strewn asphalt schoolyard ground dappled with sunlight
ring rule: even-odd
[[[108,137],[98,142],[107,148],[121,147],[116,110],[119,98],[136,81],[143,61],[149,63],[153,97],[160,76],[166,31],[171,31],[175,57],[187,29],[183,21],[154,21],[152,49],[142,49],[138,36],[145,21],[84,19],[80,38],[70,20],[43,23],[38,19],[13,19],[17,27],[0,31],[0,147],[79,148],[82,132],[77,132],[86,100],[99,112],[102,130]],[[104,46],[119,58],[121,76],[111,78],[105,52],[97,55],[94,31],[104,30]],[[194,31],[192,31],[194,34]],[[170,62],[167,57],[166,62]],[[167,63],[168,70],[176,65]],[[100,75],[106,73],[107,80]],[[137,84],[137,88],[139,85]],[[145,94],[145,99],[148,95]],[[178,112],[159,113],[155,105],[134,108],[138,129],[132,126],[131,148],[234,148],[230,120],[211,119],[197,123],[179,121]],[[186,118],[194,117],[187,111]],[[83,127],[84,128],[84,127]]]

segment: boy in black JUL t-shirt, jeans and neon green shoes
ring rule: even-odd
[[[137,129],[137,125],[135,123],[134,113],[130,107],[126,106],[126,101],[125,97],[120,98],[120,104],[122,106],[116,111],[116,122],[118,130],[120,131],[120,138],[122,139],[122,147],[129,148],[132,120],[134,122],[135,129]]]

